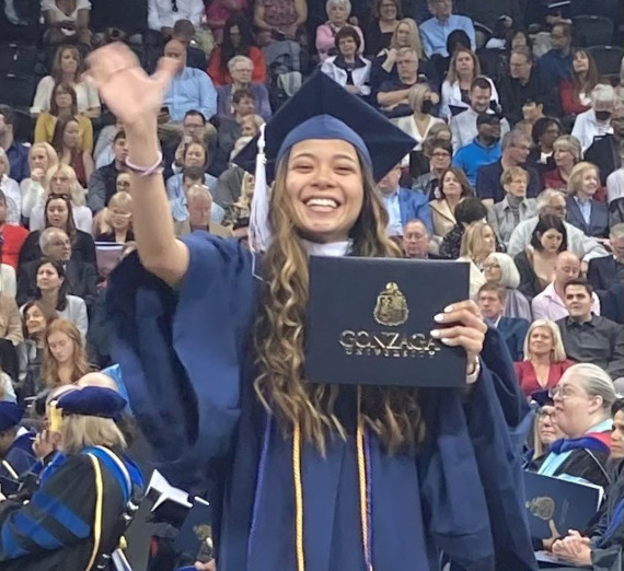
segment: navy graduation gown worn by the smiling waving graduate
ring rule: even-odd
[[[219,571],[294,571],[292,443],[253,392],[251,255],[206,233],[185,242],[178,292],[136,255],[112,276],[113,354],[158,469],[175,486],[209,490]],[[371,438],[375,569],[437,571],[442,550],[471,571],[535,569],[520,471],[528,409],[502,347],[488,331],[467,398],[423,392],[429,438],[415,457],[389,456]],[[336,412],[347,429],[355,407],[343,387]],[[301,466],[305,569],[363,571],[353,435],[331,439],[325,458],[304,444]]]

